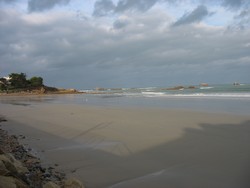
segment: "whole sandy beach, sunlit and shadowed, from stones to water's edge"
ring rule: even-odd
[[[4,128],[89,188],[249,188],[250,117],[0,104]]]

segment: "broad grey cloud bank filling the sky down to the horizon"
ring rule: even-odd
[[[197,10],[187,15],[193,15],[189,23],[209,15],[206,8]],[[239,19],[248,15],[238,12]],[[200,78],[220,80],[220,75],[225,81],[238,76],[249,82],[249,29],[169,27],[172,19],[167,16],[158,9],[127,13],[111,25],[57,11],[23,14],[0,9],[0,76],[42,73],[48,85],[77,88],[199,83]]]

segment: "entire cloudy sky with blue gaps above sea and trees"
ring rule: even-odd
[[[250,0],[0,0],[0,41],[50,86],[250,83]]]

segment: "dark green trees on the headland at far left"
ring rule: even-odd
[[[32,77],[30,79],[26,78],[25,73],[11,73],[8,77],[0,78],[0,90],[29,90],[36,89],[44,86],[43,78]]]

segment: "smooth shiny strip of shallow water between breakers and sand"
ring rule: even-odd
[[[231,115],[250,115],[249,99],[232,98],[186,98],[186,97],[129,97],[105,94],[46,94],[23,96],[0,96],[0,103],[13,105],[40,105],[43,103],[78,106],[177,109],[194,112],[212,112]]]

